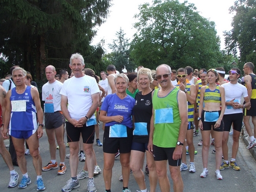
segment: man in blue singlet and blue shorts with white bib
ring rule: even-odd
[[[18,165],[23,174],[22,181],[19,183],[18,187],[26,188],[27,185],[31,183],[25,159],[24,141],[26,139],[37,175],[37,190],[45,190],[41,176],[42,159],[38,150],[38,139],[42,137],[43,134],[43,113],[37,89],[26,86],[25,84],[26,75],[27,72],[19,67],[12,71],[16,88],[13,88],[7,93],[3,135],[4,138],[7,137],[9,125],[9,135],[12,137]],[[36,112],[39,126],[37,126]]]

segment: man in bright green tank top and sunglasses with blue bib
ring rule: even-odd
[[[173,74],[168,65],[158,66],[156,72],[161,88],[152,93],[153,109],[147,148],[154,155],[161,191],[170,191],[167,160],[174,191],[183,191],[180,164],[188,123],[186,94],[170,81]]]

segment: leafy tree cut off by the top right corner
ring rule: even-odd
[[[230,7],[236,13],[232,19],[232,29],[226,31],[225,45],[229,53],[239,56],[242,63],[256,63],[256,1],[239,0]],[[239,53],[238,53],[238,50]]]

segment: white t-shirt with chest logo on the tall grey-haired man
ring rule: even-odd
[[[75,76],[64,81],[61,95],[68,97],[68,111],[72,119],[79,120],[85,117],[90,110],[93,100],[92,95],[99,93],[99,87],[94,77],[84,75]],[[95,118],[95,115],[91,118]]]

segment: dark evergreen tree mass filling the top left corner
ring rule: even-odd
[[[1,0],[0,52],[40,80],[47,65],[69,69],[79,52],[100,70],[101,46],[90,46],[108,15],[111,0]]]

